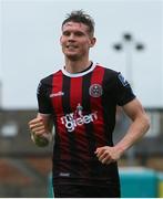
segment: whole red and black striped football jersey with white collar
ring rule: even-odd
[[[60,184],[119,182],[116,163],[102,165],[96,147],[113,146],[116,105],[135,97],[121,73],[99,64],[81,73],[64,69],[40,81],[39,113],[55,126],[53,179]]]

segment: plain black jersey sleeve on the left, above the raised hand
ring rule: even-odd
[[[39,113],[41,114],[52,114],[51,102],[48,93],[48,86],[40,81],[37,90],[37,98]]]

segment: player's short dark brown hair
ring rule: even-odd
[[[94,25],[95,25],[94,20],[83,10],[75,10],[72,11],[71,13],[68,13],[67,19],[62,22],[62,27],[70,21],[85,24],[89,28],[89,33],[92,35],[94,34]]]

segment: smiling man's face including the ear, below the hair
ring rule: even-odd
[[[85,24],[68,22],[62,27],[60,43],[68,59],[80,60],[89,55],[89,49],[94,45],[95,39],[90,35]]]

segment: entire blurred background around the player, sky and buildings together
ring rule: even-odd
[[[163,197],[163,1],[0,1],[0,197],[51,197],[52,144],[38,148],[28,122],[37,115],[40,78],[63,65],[61,23],[83,9],[95,21],[91,59],[121,71],[151,118],[151,129],[119,161],[122,197]],[[118,108],[114,142],[130,121]]]

